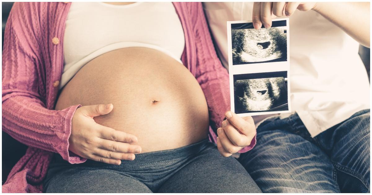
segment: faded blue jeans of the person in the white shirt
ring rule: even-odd
[[[239,161],[263,192],[370,192],[370,110],[311,138],[297,114],[257,128]]]

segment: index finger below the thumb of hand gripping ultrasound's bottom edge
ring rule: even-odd
[[[234,126],[232,126],[227,120],[222,122],[222,128],[232,144],[239,147],[250,145],[252,139],[248,138],[246,135],[240,134],[238,130],[235,129]]]

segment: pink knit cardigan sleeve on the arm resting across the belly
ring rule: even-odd
[[[4,33],[2,129],[29,147],[56,152],[70,163],[83,163],[85,158],[68,151],[71,120],[81,105],[63,110],[46,108],[46,76],[41,75],[48,73],[37,50],[40,43],[31,35],[30,24],[22,22],[27,21],[22,19],[22,14],[28,14],[25,6],[14,4]]]

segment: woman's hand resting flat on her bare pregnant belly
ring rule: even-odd
[[[93,117],[112,111],[112,104],[77,108],[72,118],[68,150],[83,157],[108,164],[134,160],[142,148],[137,137],[96,123]]]

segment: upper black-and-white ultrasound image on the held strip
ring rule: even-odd
[[[232,65],[287,61],[286,26],[232,28],[231,41]]]

